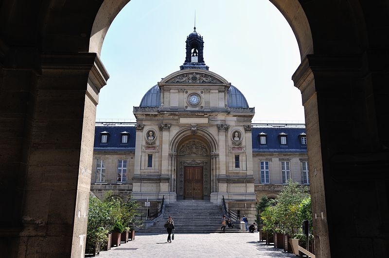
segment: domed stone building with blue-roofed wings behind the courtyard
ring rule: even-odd
[[[224,196],[230,210],[253,219],[261,195],[275,197],[289,178],[308,184],[305,127],[253,129],[254,108],[209,71],[203,46],[199,33],[189,34],[185,63],[146,92],[136,124],[96,125],[95,194],[131,193],[155,208],[163,197],[221,204]]]

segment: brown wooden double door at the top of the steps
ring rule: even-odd
[[[185,166],[184,169],[184,199],[203,199],[203,167]]]

